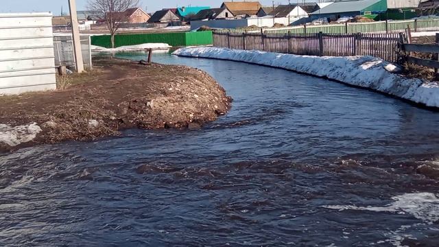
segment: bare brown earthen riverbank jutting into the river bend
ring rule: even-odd
[[[99,59],[60,78],[60,91],[0,97],[0,151],[38,143],[88,141],[127,128],[200,128],[230,109],[207,73],[185,66]]]

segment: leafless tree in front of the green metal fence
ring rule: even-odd
[[[121,23],[128,21],[123,12],[139,5],[139,0],[88,0],[88,9],[101,13],[111,35],[111,47],[115,47],[115,34]]]

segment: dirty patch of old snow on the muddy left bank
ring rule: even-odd
[[[41,132],[40,126],[31,123],[25,126],[8,126],[0,124],[0,143],[15,147],[21,143],[27,143],[35,139],[36,134]]]

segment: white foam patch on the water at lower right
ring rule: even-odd
[[[357,207],[353,205],[328,205],[324,207],[339,211],[366,210],[410,214],[428,224],[439,221],[439,198],[434,193],[405,193],[401,196],[392,197],[392,200],[394,202],[384,207]]]

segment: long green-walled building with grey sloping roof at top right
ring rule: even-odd
[[[336,21],[341,17],[364,14],[383,14],[387,11],[387,0],[336,0],[311,13],[312,19],[327,18]]]

